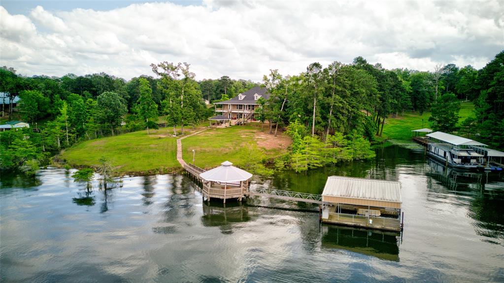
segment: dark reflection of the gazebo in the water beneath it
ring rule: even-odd
[[[203,202],[203,216],[201,222],[206,227],[219,227],[222,234],[233,233],[235,223],[250,220],[248,208],[239,202],[220,203]]]

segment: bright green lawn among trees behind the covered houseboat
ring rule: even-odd
[[[465,118],[474,115],[474,105],[472,102],[462,102],[459,112],[459,123]],[[404,116],[398,118],[388,118],[385,120],[383,129],[383,138],[394,140],[411,140],[412,130],[420,128],[430,128],[430,112],[424,112],[422,115],[416,112],[406,112]]]

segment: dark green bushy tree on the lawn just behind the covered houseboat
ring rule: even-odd
[[[459,121],[460,101],[453,93],[447,93],[439,97],[432,106],[431,122],[434,131],[452,132],[457,129]]]

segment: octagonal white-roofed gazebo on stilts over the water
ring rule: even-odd
[[[200,174],[203,179],[203,196],[206,196],[208,201],[212,197],[223,199],[224,203],[228,198],[241,201],[252,174],[232,165],[231,162],[225,161],[221,166]]]

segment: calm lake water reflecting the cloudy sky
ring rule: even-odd
[[[191,179],[122,179],[87,193],[64,170],[2,175],[2,282],[504,281],[504,177],[457,173],[423,149],[256,186],[321,193],[329,175],[402,183],[402,235],[319,224],[316,206],[202,202]],[[279,207],[273,208],[273,207]],[[292,210],[294,209],[294,210]]]

